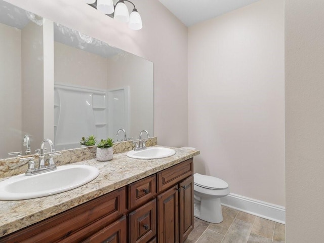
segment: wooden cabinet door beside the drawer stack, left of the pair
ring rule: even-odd
[[[157,234],[159,243],[179,242],[179,187],[157,196]]]

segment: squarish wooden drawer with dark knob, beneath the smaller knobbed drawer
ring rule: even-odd
[[[156,235],[156,199],[129,214],[129,242],[144,243]]]

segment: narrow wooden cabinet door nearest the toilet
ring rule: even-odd
[[[193,176],[180,183],[180,242],[193,230]]]

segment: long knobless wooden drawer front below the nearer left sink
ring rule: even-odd
[[[126,188],[120,188],[0,239],[0,242],[79,242],[126,212]],[[102,221],[104,224],[98,224]],[[87,230],[85,230],[87,229]],[[87,236],[82,236],[83,231]]]

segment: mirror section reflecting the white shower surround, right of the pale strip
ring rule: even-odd
[[[123,140],[153,135],[153,64],[54,24],[54,136],[57,149],[82,137]]]

